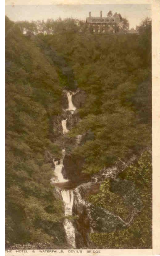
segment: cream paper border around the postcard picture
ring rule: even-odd
[[[58,0],[59,4],[146,4],[152,3],[152,111],[153,111],[153,249],[136,249],[136,250],[101,250],[100,255],[158,255],[160,254],[160,0]],[[6,0],[6,4],[57,4],[56,0]],[[1,8],[1,11],[2,8]],[[1,19],[3,15],[1,15]],[[1,23],[2,24],[2,23]],[[4,28],[4,27],[3,27]],[[2,28],[1,28],[2,29]],[[2,33],[2,30],[1,30]],[[2,42],[1,42],[2,43]],[[2,49],[2,46],[1,46]],[[2,55],[1,55],[2,56]],[[1,71],[2,67],[1,65]],[[3,82],[2,84],[3,85]],[[3,86],[2,86],[3,88]],[[1,88],[1,90],[2,90]],[[4,96],[1,99],[1,109],[4,102]],[[1,120],[4,115],[1,113]],[[4,135],[2,135],[1,126],[1,145],[3,144]],[[2,159],[4,160],[4,149],[1,151]],[[2,161],[3,162],[3,161]],[[3,168],[2,168],[3,170]],[[4,219],[1,217],[1,220]],[[4,225],[3,225],[4,226]],[[3,233],[4,234],[4,233]],[[4,236],[3,236],[4,237]],[[4,240],[4,239],[3,239]],[[2,241],[2,239],[1,239]],[[3,243],[4,246],[4,243]],[[2,248],[2,247],[1,247]],[[27,250],[28,253],[18,253],[16,250],[12,250],[12,253],[6,253],[6,255],[71,255],[68,250],[64,250],[63,254],[42,254],[39,250],[35,250],[35,253],[30,253],[32,250]],[[3,254],[2,254],[3,255]],[[72,255],[99,255],[99,254],[87,254],[86,250],[83,250],[82,254],[74,253]]]

